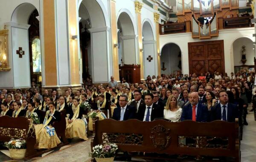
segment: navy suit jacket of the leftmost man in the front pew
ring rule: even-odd
[[[135,113],[136,113],[136,108],[134,106],[127,105],[123,120],[125,121],[129,119],[135,119]],[[116,107],[114,109],[112,119],[120,120],[120,117],[121,117],[121,107]]]

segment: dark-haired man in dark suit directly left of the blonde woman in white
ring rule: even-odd
[[[151,93],[145,95],[145,105],[139,107],[137,119],[143,122],[151,122],[156,118],[163,118],[163,109],[153,103],[154,96]]]

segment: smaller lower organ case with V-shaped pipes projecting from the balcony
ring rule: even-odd
[[[218,18],[216,12],[207,24],[201,24],[192,15],[192,38],[209,39],[214,36],[218,36]]]

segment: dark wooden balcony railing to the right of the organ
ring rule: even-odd
[[[242,17],[232,17],[232,18],[224,18],[223,19],[223,28],[230,29],[230,28],[244,28],[244,27],[252,27],[250,19],[253,16],[242,16]]]

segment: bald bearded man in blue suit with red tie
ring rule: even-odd
[[[208,109],[205,105],[198,103],[198,93],[190,94],[190,104],[183,107],[181,121],[193,120],[195,122],[207,122]]]

